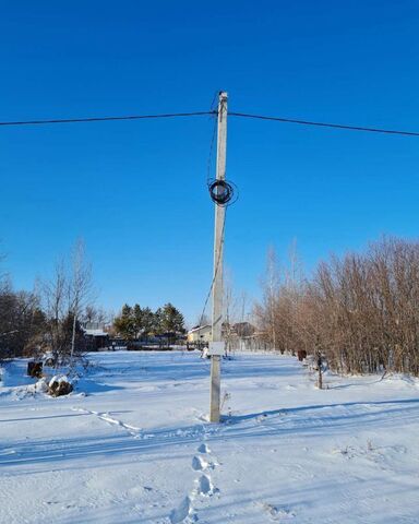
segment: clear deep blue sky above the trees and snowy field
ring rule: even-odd
[[[1,1],[0,120],[230,110],[419,130],[419,3]],[[212,273],[212,121],[0,128],[0,238],[16,288],[84,237],[98,301],[172,301]],[[259,294],[268,245],[306,266],[418,234],[419,139],[229,119],[226,263]]]

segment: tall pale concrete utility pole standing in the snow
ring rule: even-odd
[[[217,129],[217,180],[226,179],[226,150],[227,150],[227,93],[220,92],[218,98],[218,129]],[[212,340],[220,347],[223,324],[223,257],[224,257],[224,221],[226,209],[215,204],[214,230],[214,286],[213,286],[213,319]],[[215,347],[216,344],[213,344]],[[218,354],[216,354],[218,353]],[[210,421],[219,422],[220,397],[220,359],[219,352],[210,350],[211,355],[211,404]]]

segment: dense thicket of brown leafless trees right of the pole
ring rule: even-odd
[[[268,257],[264,337],[282,353],[322,355],[343,373],[419,376],[419,243],[383,238],[363,253],[331,257],[304,277],[298,260],[279,270]]]

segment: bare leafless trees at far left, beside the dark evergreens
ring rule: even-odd
[[[67,261],[56,264],[49,279],[34,291],[15,291],[0,277],[0,360],[49,352],[57,364],[80,357],[85,349],[82,323],[99,311],[91,306],[92,272],[76,242]]]

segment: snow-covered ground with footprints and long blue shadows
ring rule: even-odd
[[[26,362],[0,386],[0,522],[418,523],[419,382],[314,377],[296,358],[103,353],[67,397]]]

